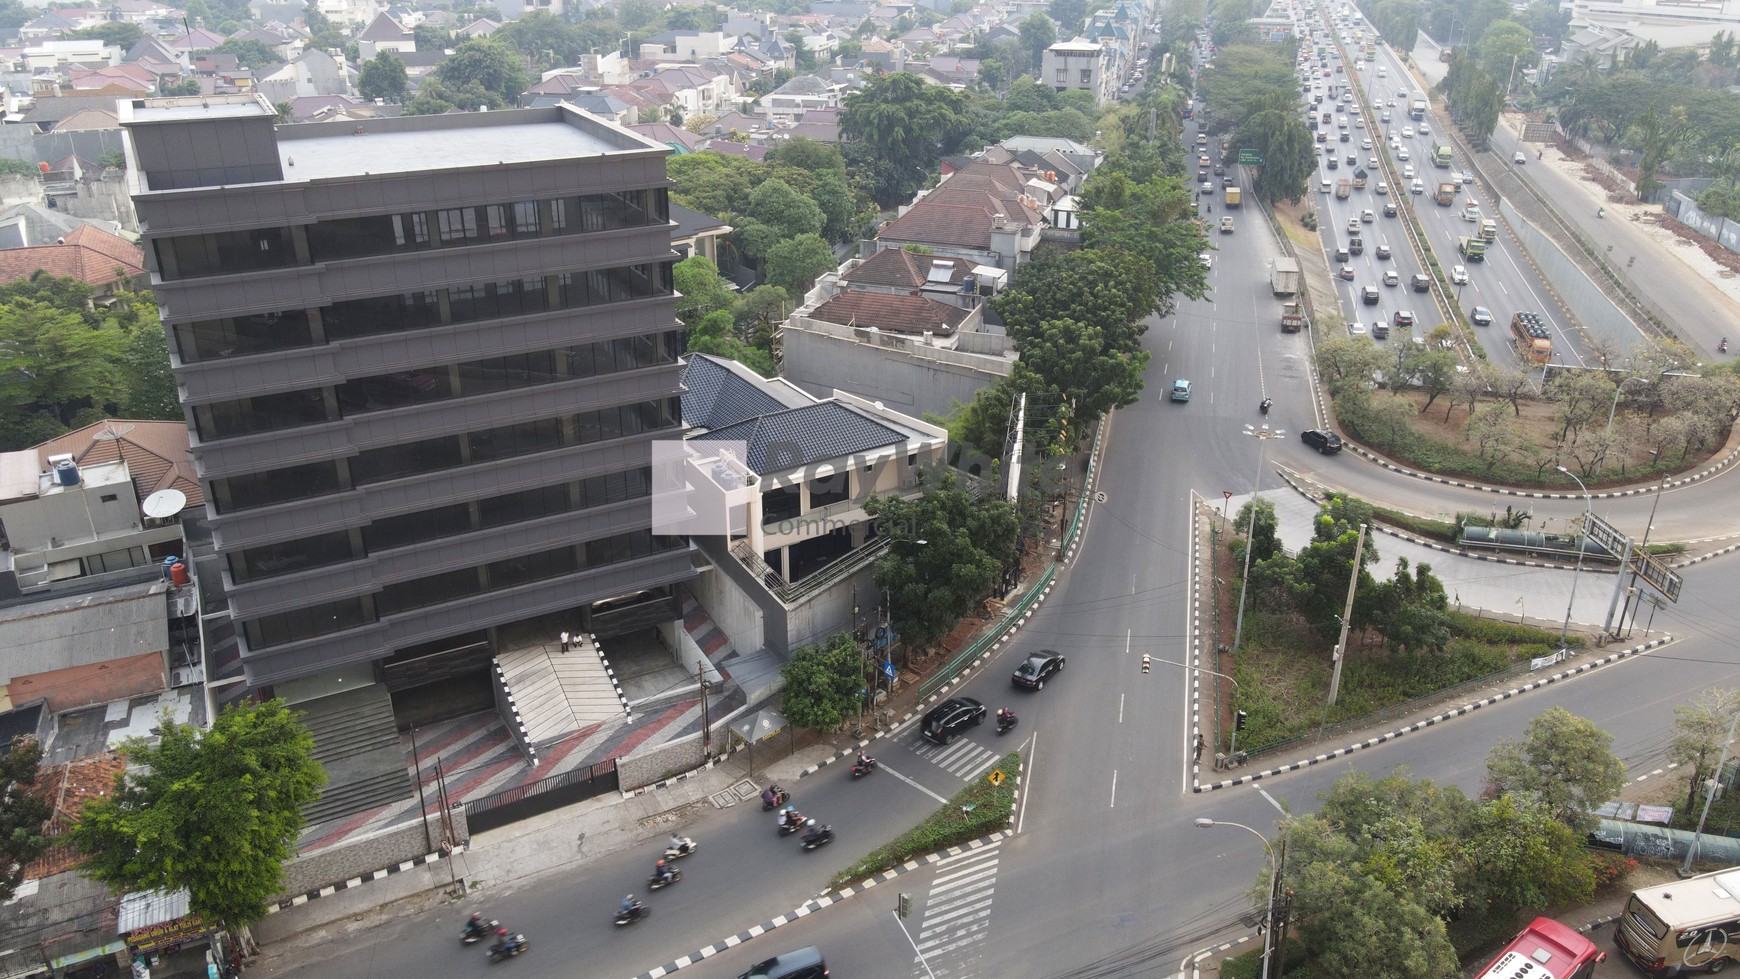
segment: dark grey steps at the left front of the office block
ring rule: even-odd
[[[320,798],[303,809],[310,826],[414,795],[385,687],[346,690],[294,709],[315,737],[315,760],[327,770]]]

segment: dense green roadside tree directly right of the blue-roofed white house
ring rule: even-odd
[[[894,631],[908,643],[947,636],[1020,556],[1014,508],[980,499],[954,473],[917,499],[872,497],[865,513],[877,536],[893,541],[875,583],[887,589]]]

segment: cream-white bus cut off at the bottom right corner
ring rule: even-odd
[[[1740,962],[1740,868],[1634,890],[1613,944],[1653,979]]]

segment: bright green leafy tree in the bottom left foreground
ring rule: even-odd
[[[80,869],[115,890],[186,889],[195,915],[231,929],[263,918],[325,784],[301,720],[278,699],[231,706],[204,732],[164,716],[155,746],[132,737],[122,753],[115,791],[73,826]]]

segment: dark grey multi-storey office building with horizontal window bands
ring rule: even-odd
[[[691,548],[649,503],[682,417],[666,146],[572,106],[122,125],[251,687],[465,713],[515,628],[679,617]]]

